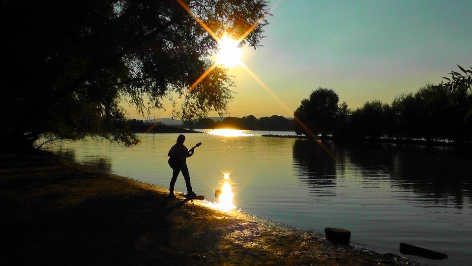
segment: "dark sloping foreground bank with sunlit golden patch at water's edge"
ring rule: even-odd
[[[167,192],[45,152],[0,153],[0,264],[412,264]]]

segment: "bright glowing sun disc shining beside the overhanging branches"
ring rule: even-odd
[[[238,47],[239,42],[228,35],[224,35],[218,41],[219,52],[216,55],[216,64],[233,68],[241,65],[242,49]]]

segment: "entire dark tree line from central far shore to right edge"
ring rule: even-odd
[[[226,117],[222,121],[201,118],[177,126],[189,129],[233,128],[262,131],[295,131],[311,137],[337,139],[396,139],[427,142],[472,141],[472,67],[451,71],[451,79],[426,84],[415,93],[401,94],[391,103],[372,100],[351,110],[332,89],[318,88],[303,99],[294,119],[273,115]],[[130,121],[139,124],[142,121]]]

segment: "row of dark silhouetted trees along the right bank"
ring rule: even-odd
[[[467,74],[467,72],[466,72]],[[472,94],[427,84],[392,103],[365,102],[350,110],[332,89],[318,88],[295,110],[295,132],[341,139],[472,140]]]

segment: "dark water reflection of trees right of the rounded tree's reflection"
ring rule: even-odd
[[[350,145],[350,161],[371,178],[384,168],[392,187],[412,190],[425,204],[462,208],[472,202],[472,157],[470,148],[418,145]]]

